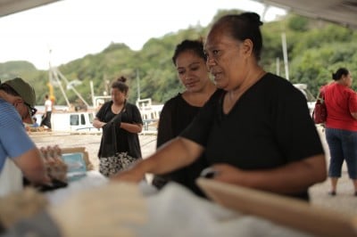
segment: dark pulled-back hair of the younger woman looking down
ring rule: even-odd
[[[192,51],[204,61],[207,61],[207,56],[203,53],[203,42],[202,40],[189,40],[185,39],[179,45],[176,46],[175,53],[172,56],[172,62],[176,66],[176,60],[180,53]]]

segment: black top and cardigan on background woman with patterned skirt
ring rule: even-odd
[[[104,123],[108,123],[116,116],[116,114],[112,112],[111,107],[112,101],[105,102],[95,117]],[[124,108],[120,111],[117,121],[113,124],[108,123],[103,127],[102,141],[98,151],[99,158],[113,156],[117,152],[128,152],[129,156],[133,158],[141,158],[138,135],[120,128],[120,121],[130,124],[143,124],[137,106],[125,102]]]

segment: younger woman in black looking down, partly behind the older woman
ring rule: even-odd
[[[157,147],[178,136],[216,90],[205,65],[206,60],[202,41],[184,40],[176,46],[172,62],[178,71],[179,80],[186,90],[165,102],[160,115]],[[203,195],[195,185],[195,178],[206,167],[207,162],[202,156],[185,168],[162,176],[154,176],[153,184],[161,188],[168,181],[175,181],[187,186],[196,194]]]

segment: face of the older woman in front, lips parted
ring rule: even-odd
[[[229,91],[242,84],[248,70],[244,42],[229,37],[225,29],[215,28],[206,38],[204,52],[217,87]]]

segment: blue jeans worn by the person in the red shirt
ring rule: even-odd
[[[357,179],[357,132],[328,127],[325,132],[330,153],[328,176],[340,177],[345,160],[348,176]]]

